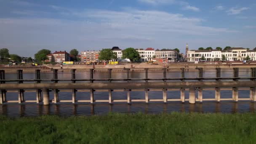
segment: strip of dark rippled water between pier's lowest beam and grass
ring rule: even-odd
[[[3,104],[0,114],[9,117],[40,115],[105,115],[108,112],[159,114],[165,112],[210,112],[237,113],[255,112],[255,103],[244,102],[204,102],[197,104]]]

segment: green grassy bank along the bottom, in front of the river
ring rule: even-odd
[[[7,143],[254,143],[256,114],[0,117]]]

